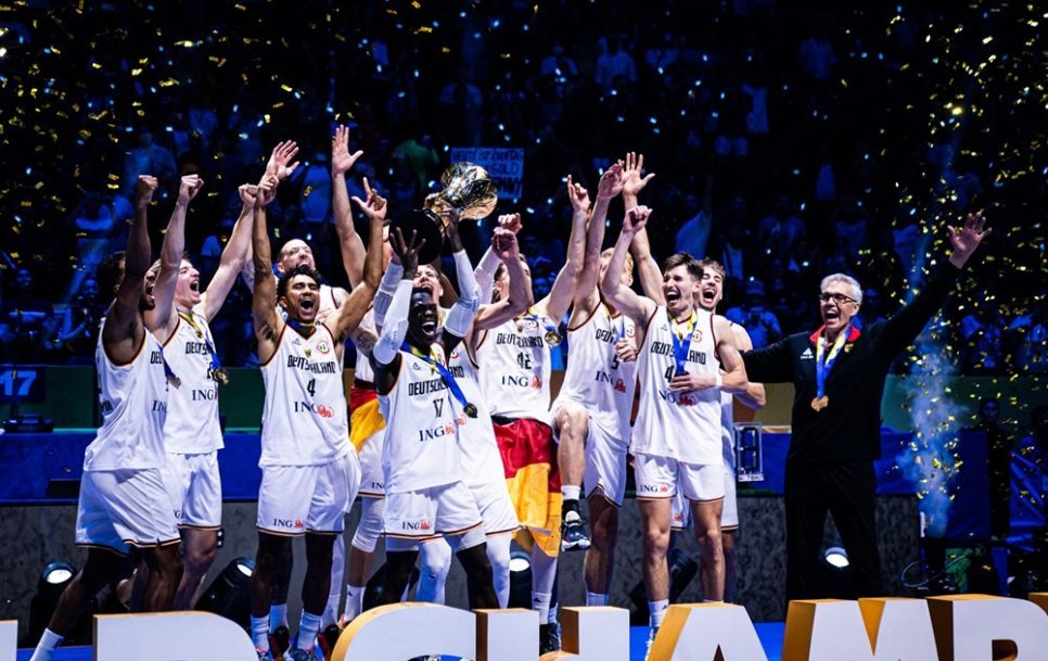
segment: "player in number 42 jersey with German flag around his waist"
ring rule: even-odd
[[[561,340],[558,325],[574,296],[589,217],[589,193],[570,177],[567,194],[573,207],[567,259],[549,295],[525,314],[482,331],[475,341],[481,385],[488,394],[510,496],[525,527],[517,538],[531,550],[532,608],[539,613],[540,653],[558,646],[550,602],[560,552],[561,485],[549,414],[550,347]],[[508,296],[509,291],[509,272],[499,267],[494,300]]]

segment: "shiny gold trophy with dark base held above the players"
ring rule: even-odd
[[[484,218],[498,204],[498,188],[487,170],[474,163],[456,163],[440,175],[443,190],[426,199],[425,208],[401,214],[393,220],[391,229],[400,229],[405,241],[411,240],[411,231],[425,239],[419,252],[419,264],[429,264],[440,256],[448,220],[445,213],[455,211],[459,219]]]

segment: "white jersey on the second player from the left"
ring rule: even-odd
[[[164,445],[169,453],[196,455],[222,448],[218,424],[218,382],[212,374],[212,338],[207,319],[178,313],[178,326],[164,345],[164,358],[180,383],[167,397]]]

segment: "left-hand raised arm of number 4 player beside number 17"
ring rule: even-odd
[[[252,263],[255,289],[251,295],[251,314],[258,340],[258,359],[265,365],[277,351],[277,339],[283,330],[284,320],[277,314],[277,277],[273,275],[269,230],[266,227],[266,206],[277,196],[277,179],[268,177],[255,196],[254,223],[252,223]]]

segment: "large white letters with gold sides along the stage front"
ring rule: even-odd
[[[629,613],[562,609],[563,649],[540,661],[629,661]],[[97,615],[98,661],[256,661],[247,634],[200,612]],[[14,661],[16,622],[0,622],[0,661]],[[998,653],[999,652],[999,653]],[[372,609],[342,632],[330,661],[404,661],[451,654],[533,661],[538,613],[459,610],[433,603]],[[1004,656],[1001,656],[1004,654]],[[1030,600],[956,595],[792,601],[783,661],[1048,661],[1048,594]],[[730,603],[670,606],[649,661],[767,661],[746,610]]]

